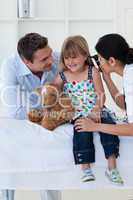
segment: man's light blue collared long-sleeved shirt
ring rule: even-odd
[[[59,54],[53,52],[50,71],[44,71],[41,79],[24,64],[18,53],[5,60],[0,68],[0,99],[3,117],[25,119],[30,104],[34,104],[32,92],[46,82],[52,82],[58,72]]]

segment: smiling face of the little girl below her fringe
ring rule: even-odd
[[[85,67],[85,61],[87,57],[81,54],[76,54],[70,57],[64,57],[65,66],[71,70],[71,72],[77,72]]]

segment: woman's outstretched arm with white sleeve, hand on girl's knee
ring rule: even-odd
[[[80,131],[100,131],[106,134],[133,136],[133,69],[127,69],[124,75],[124,90],[127,104],[127,124],[101,124],[95,123],[91,119],[78,119],[75,128]]]

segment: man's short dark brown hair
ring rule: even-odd
[[[48,46],[48,39],[38,33],[28,33],[20,38],[17,45],[17,51],[21,58],[33,61],[34,53],[38,49]]]

